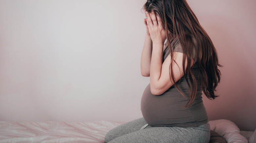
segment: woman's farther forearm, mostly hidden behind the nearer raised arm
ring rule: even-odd
[[[146,34],[145,34],[144,46],[143,46],[141,59],[140,59],[140,71],[142,76],[148,77],[150,75],[152,40],[150,38],[146,19],[144,19],[144,24],[146,26]]]

